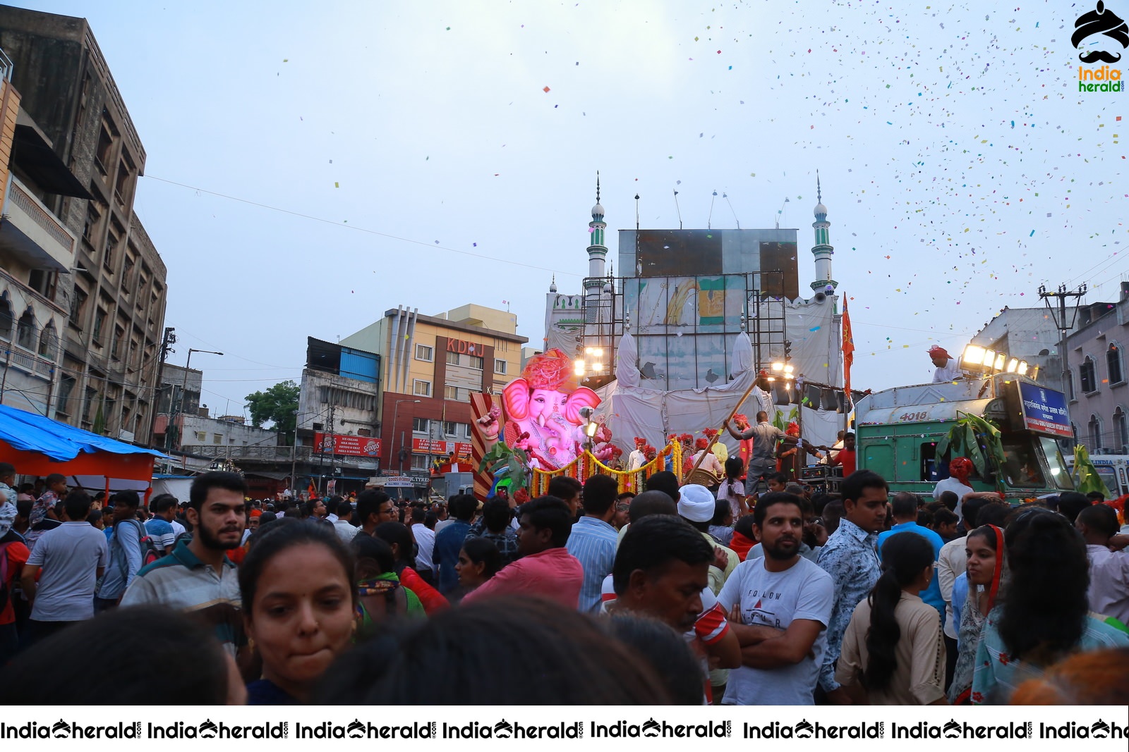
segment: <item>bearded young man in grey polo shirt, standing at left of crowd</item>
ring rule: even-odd
[[[193,480],[186,512],[192,540],[181,540],[172,554],[142,568],[121,604],[159,603],[189,612],[211,626],[234,655],[244,642],[243,619],[238,572],[227,551],[243,539],[246,493],[236,472],[205,472]]]

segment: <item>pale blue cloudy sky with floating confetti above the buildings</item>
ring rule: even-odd
[[[15,5],[90,23],[148,154],[169,362],[225,353],[192,360],[219,414],[399,304],[509,301],[540,345],[597,170],[610,258],[639,194],[645,228],[798,228],[802,289],[819,170],[856,389],[928,381],[929,345],[1040,284],[1129,274],[1126,96],[1079,92],[1070,42],[1089,2]]]

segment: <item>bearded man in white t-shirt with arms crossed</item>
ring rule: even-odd
[[[729,672],[723,704],[814,705],[834,582],[799,555],[804,512],[798,497],[769,494],[753,520],[765,555],[743,561],[717,596],[729,611],[742,655],[742,666]]]

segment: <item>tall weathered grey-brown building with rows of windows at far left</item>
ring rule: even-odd
[[[85,19],[2,6],[0,47],[12,61],[20,106],[85,194],[46,188],[35,196],[77,238],[73,257],[59,265],[67,268],[29,277],[54,307],[50,322],[61,344],[47,409],[147,443],[167,290],[165,264],[133,212],[145,148]],[[55,235],[65,245],[67,232]]]

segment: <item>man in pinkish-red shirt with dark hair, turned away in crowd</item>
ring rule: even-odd
[[[542,496],[522,505],[518,514],[520,558],[502,567],[463,602],[492,595],[530,595],[575,610],[584,584],[584,567],[564,548],[572,531],[572,512],[555,496]]]

